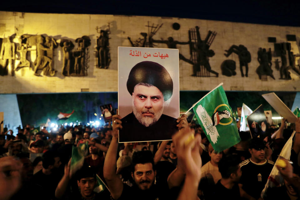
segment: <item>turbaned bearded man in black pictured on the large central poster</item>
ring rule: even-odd
[[[140,62],[129,73],[127,90],[132,95],[133,112],[121,120],[120,142],[170,140],[178,123],[163,114],[164,102],[173,94],[168,71],[155,62]]]

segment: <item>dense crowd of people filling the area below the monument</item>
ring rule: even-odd
[[[119,143],[119,115],[107,126],[60,127],[34,134],[27,124],[16,136],[0,134],[0,199],[261,199],[283,146],[296,131],[290,160],[277,166],[283,184],[264,199],[299,199],[300,119],[217,152],[200,125],[178,118],[171,141]],[[142,134],[142,133],[141,133]],[[72,149],[88,145],[83,165],[71,173]],[[292,163],[292,164],[291,164]],[[95,190],[98,177],[108,188]]]

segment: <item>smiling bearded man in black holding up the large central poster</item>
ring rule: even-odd
[[[178,129],[187,127],[186,115],[179,121]],[[129,187],[123,184],[116,174],[116,158],[118,153],[118,131],[123,128],[120,115],[113,115],[113,138],[109,145],[107,155],[104,161],[103,175],[110,190],[111,196],[115,200],[122,199],[145,199],[155,200],[164,199],[168,195],[168,185],[157,187],[154,184],[156,170],[151,151],[139,151],[133,153],[131,176],[134,186]],[[185,123],[182,123],[185,121]],[[175,199],[175,198],[166,198]]]

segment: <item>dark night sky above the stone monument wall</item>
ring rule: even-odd
[[[299,0],[230,1],[3,1],[0,10],[197,18],[300,26]]]

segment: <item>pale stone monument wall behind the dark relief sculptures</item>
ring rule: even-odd
[[[174,23],[180,25],[178,30],[175,30],[176,26],[174,29]],[[8,75],[1,76],[0,93],[116,92],[118,91],[117,47],[131,46],[128,37],[131,38],[133,43],[140,41],[139,45],[142,45],[143,36],[140,33],[145,32],[148,35],[146,46],[149,46],[149,35],[151,35],[151,30],[153,32],[154,27],[156,27],[157,32],[152,37],[154,40],[168,40],[168,37],[173,37],[175,41],[188,42],[188,31],[190,29],[195,31],[196,26],[199,27],[199,33],[203,41],[209,30],[216,32],[214,40],[209,44],[209,49],[206,49],[205,51],[209,54],[209,50],[213,50],[214,55],[208,57],[208,62],[211,69],[218,73],[218,77],[213,73],[208,73],[203,67],[201,72],[197,73],[196,76],[192,76],[192,74],[194,74],[193,68],[195,68],[195,66],[180,60],[180,90],[211,90],[221,82],[224,83],[223,87],[225,90],[232,91],[300,90],[299,75],[294,70],[290,69],[291,80],[279,79],[280,71],[275,69],[275,61],[278,59],[280,62],[279,66],[281,66],[282,59],[278,56],[278,53],[274,52],[274,42],[268,42],[268,37],[276,37],[276,43],[289,42],[291,44],[290,52],[297,55],[299,54],[300,48],[300,27],[283,27],[175,17],[0,12],[0,39],[2,44],[4,44],[7,41],[6,37],[12,36],[16,47],[16,58],[15,62],[13,62],[15,69],[21,59],[20,53],[17,52],[17,48],[21,47],[19,38],[21,36],[24,37],[24,34],[32,36],[42,35],[43,39],[48,36],[53,38],[58,44],[58,47],[53,49],[52,64],[53,69],[56,70],[53,76],[46,76],[43,72],[39,73],[39,76],[34,75],[33,69],[34,61],[37,58],[37,46],[32,45],[27,51],[27,60],[30,62],[30,68],[22,67],[19,70],[14,71],[14,76],[11,76],[9,71]],[[98,52],[96,47],[97,38],[100,36],[101,30],[109,30],[109,55],[111,62],[107,69],[98,68],[97,66],[98,62],[96,54]],[[193,34],[192,37],[196,38],[196,32]],[[287,35],[295,35],[296,41],[287,41]],[[90,39],[90,45],[85,52],[85,58],[87,59],[85,76],[63,75],[63,47],[59,44],[63,44],[63,41],[71,41],[74,44],[72,51],[75,52],[79,45],[76,39],[82,38],[83,36],[88,36]],[[194,63],[199,62],[197,57],[191,58],[190,54],[190,46],[194,45],[194,47],[197,47],[195,42],[196,40],[192,39],[189,44],[177,44],[179,53],[187,58],[187,60],[191,60]],[[153,44],[156,45],[154,47],[168,48],[165,43],[154,42]],[[251,62],[248,63],[248,77],[241,76],[239,58],[236,53],[232,53],[228,58],[224,55],[224,53],[226,53],[225,50],[229,50],[232,45],[238,46],[241,44],[247,47],[247,51],[251,54]],[[271,68],[275,80],[267,75],[262,75],[261,79],[259,79],[256,73],[256,69],[260,65],[257,59],[257,52],[260,47],[265,48],[267,51],[271,48]],[[202,51],[200,49],[201,47],[198,46],[199,52]],[[197,50],[194,49],[193,52],[194,54],[196,53],[195,55],[198,55]],[[300,57],[295,58],[296,68],[299,69],[297,65]],[[227,59],[236,62],[235,76],[227,77],[222,75],[221,64]],[[287,63],[287,65],[289,65],[289,61],[287,61]],[[2,71],[4,71],[5,68],[3,66],[6,64],[3,63],[3,60],[0,60],[0,64],[2,65]],[[9,68],[9,64],[7,65]],[[48,67],[47,65],[49,64],[46,63],[46,67]],[[243,67],[243,72],[245,73],[245,67]],[[203,74],[208,77],[203,77]]]

